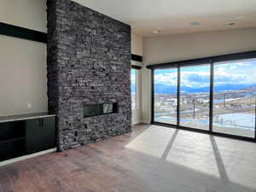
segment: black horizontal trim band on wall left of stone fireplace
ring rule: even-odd
[[[27,40],[47,43],[47,33],[38,32],[20,26],[13,26],[0,22],[0,34],[14,38],[24,38]]]

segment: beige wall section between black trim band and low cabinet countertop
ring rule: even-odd
[[[0,53],[0,116],[46,112],[46,44],[0,35]]]

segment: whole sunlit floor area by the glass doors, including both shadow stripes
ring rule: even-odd
[[[255,143],[152,125],[125,148],[256,189]]]

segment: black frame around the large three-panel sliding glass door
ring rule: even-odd
[[[215,135],[219,137],[230,137],[243,141],[256,143],[256,106],[255,106],[255,129],[254,129],[254,138],[253,137],[242,137],[236,135],[230,135],[226,133],[212,131],[212,119],[213,119],[213,83],[214,83],[214,63],[224,62],[224,61],[238,61],[238,60],[247,60],[247,59],[256,59],[256,50],[241,52],[230,55],[218,55],[200,59],[186,60],[186,61],[174,61],[167,63],[160,63],[147,66],[151,70],[151,124],[152,125],[163,125],[166,127],[177,128],[186,131],[195,131],[206,133],[210,135]],[[179,109],[180,109],[180,67],[192,67],[200,66],[203,64],[210,65],[210,103],[209,103],[209,130],[200,130],[192,127],[186,127],[179,125]],[[171,125],[166,123],[160,123],[154,121],[154,70],[155,69],[168,69],[168,68],[177,68],[177,125]]]

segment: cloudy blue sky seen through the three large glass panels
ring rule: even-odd
[[[177,85],[177,69],[159,69],[154,72],[156,84]],[[210,66],[181,67],[181,86],[201,88],[209,86]],[[256,83],[256,60],[216,63],[214,85]]]

